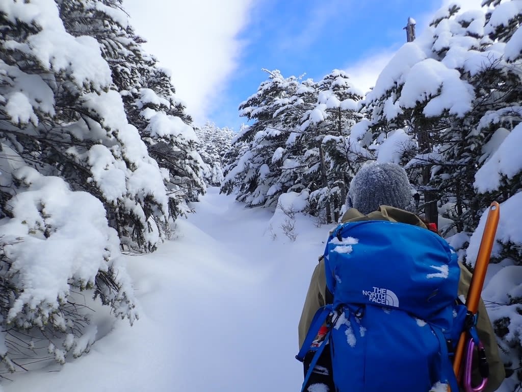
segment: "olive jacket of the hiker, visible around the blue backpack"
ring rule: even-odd
[[[355,222],[355,221],[389,221],[389,222],[401,222],[408,223],[415,226],[426,228],[420,218],[410,212],[382,205],[378,211],[374,211],[368,215],[361,214],[358,210],[350,209],[345,215],[343,215],[341,222]],[[458,294],[466,296],[471,282],[471,273],[459,263],[460,266],[460,282],[458,287]],[[325,276],[325,265],[321,259],[312,274],[310,287],[306,294],[306,299],[303,306],[303,312],[301,314],[301,320],[299,321],[299,347],[303,344],[306,337],[306,333],[312,323],[312,319],[317,312],[317,309],[325,305],[326,297],[326,276]],[[496,343],[495,333],[493,327],[481,299],[479,304],[478,312],[478,324],[477,329],[480,340],[484,344],[486,354],[488,356],[488,362],[490,366],[490,377],[488,385],[484,389],[484,392],[493,392],[496,390],[505,377],[504,365],[499,357],[499,347]],[[474,375],[473,379],[477,385],[478,374]]]

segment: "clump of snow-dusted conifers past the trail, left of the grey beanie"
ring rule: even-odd
[[[240,109],[255,122],[234,139],[233,148],[240,143],[248,147],[230,161],[222,191],[235,190],[238,200],[245,201],[255,194],[264,205],[274,205],[283,193],[305,192],[308,212],[336,221],[346,197],[348,168],[373,157],[360,144],[365,131],[350,137],[351,127],[362,118],[357,111],[362,96],[342,71],[319,83],[298,80],[271,72],[243,102]],[[267,175],[260,176],[263,171]]]

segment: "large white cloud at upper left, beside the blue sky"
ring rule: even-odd
[[[253,1],[124,0],[131,25],[148,41],[145,49],[172,71],[176,96],[196,124],[205,122],[238,67],[238,33]]]

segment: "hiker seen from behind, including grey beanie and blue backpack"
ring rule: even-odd
[[[466,317],[455,294],[458,287],[458,295],[466,296],[471,273],[457,264],[442,237],[407,211],[411,202],[408,177],[398,165],[366,165],[351,181],[349,209],[341,220],[350,224],[330,234],[299,322],[303,390],[428,392],[437,390],[437,381],[451,384],[453,377],[455,383],[448,347],[451,351]],[[374,279],[382,283],[364,285]],[[483,391],[492,392],[505,373],[482,301],[476,330],[489,362]],[[387,347],[393,352],[383,352]],[[487,376],[481,374],[473,369],[472,385]]]

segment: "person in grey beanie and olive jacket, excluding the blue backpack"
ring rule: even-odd
[[[411,189],[406,171],[399,165],[389,163],[366,165],[361,168],[350,183],[346,201],[348,210],[342,216],[341,222],[388,221],[406,223],[427,229],[421,218],[408,211],[412,202]],[[460,268],[458,295],[466,296],[471,281],[471,273],[460,263],[458,267]],[[458,271],[457,267],[456,270]],[[455,283],[457,282],[455,281]],[[325,261],[324,258],[320,258],[312,274],[299,322],[299,347],[303,345],[317,310],[332,301],[332,294],[327,291]],[[480,341],[485,347],[489,363],[488,383],[483,392],[492,392],[502,383],[505,371],[503,363],[499,358],[499,349],[493,328],[482,300],[479,305],[477,330]],[[349,335],[348,332],[350,331],[346,332],[347,336]],[[325,333],[326,327],[323,326],[319,329],[316,339],[320,341]],[[363,336],[362,333],[361,336]],[[314,341],[312,346],[319,344],[319,341]],[[304,386],[305,391],[334,392],[337,390],[333,380],[329,346],[328,343],[325,344],[326,349],[319,355],[310,378]],[[305,375],[312,361],[313,354],[313,351],[309,351],[304,356]],[[390,353],[390,358],[393,361],[394,353]],[[477,385],[481,380],[480,375],[476,373],[478,371],[474,370],[472,385]],[[476,381],[476,379],[479,381]],[[422,391],[419,390],[418,392]]]

